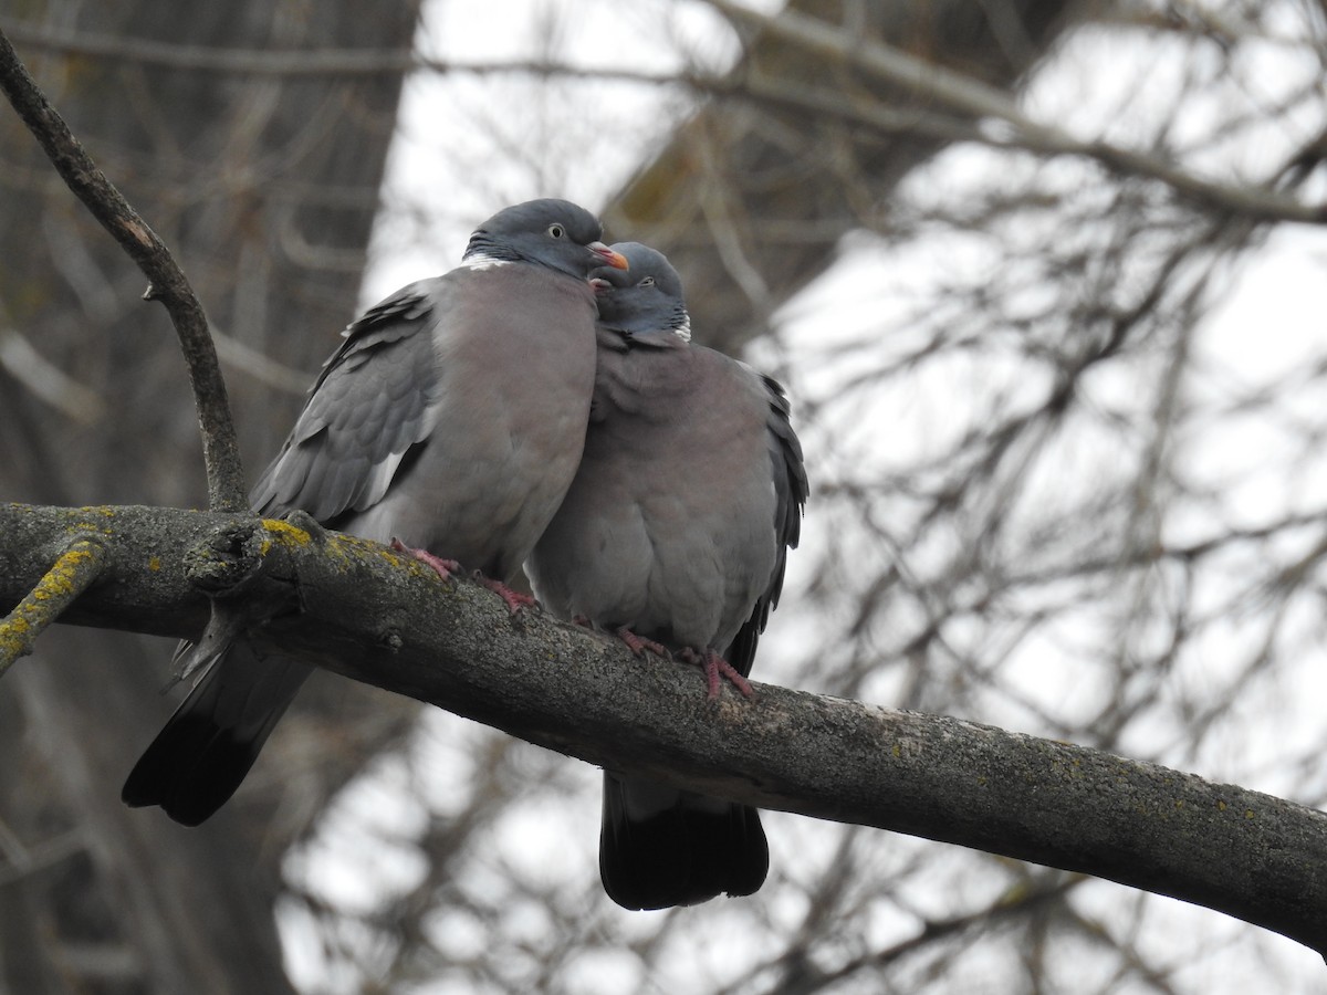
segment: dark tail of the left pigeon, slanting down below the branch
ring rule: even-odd
[[[204,821],[240,787],[311,670],[234,642],[138,759],[121,799],[161,805],[183,825]]]

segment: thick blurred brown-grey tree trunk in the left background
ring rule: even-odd
[[[5,27],[131,44],[406,49],[397,0],[8,7]],[[21,34],[21,31],[19,32]],[[401,76],[200,73],[57,45],[21,54],[176,252],[230,358],[248,466],[289,427],[356,306]],[[187,60],[186,60],[187,61]],[[8,109],[7,109],[8,110]],[[202,504],[192,398],[165,312],[12,113],[0,114],[0,490],[8,500]],[[173,707],[159,639],[62,630],[0,695],[7,869],[0,978],[13,992],[283,991],[271,909],[281,853],[415,708],[320,679],[273,764],[199,833],[117,800]],[[332,724],[326,716],[336,715]]]

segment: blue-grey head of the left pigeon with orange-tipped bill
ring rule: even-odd
[[[584,280],[596,267],[625,268],[626,260],[600,239],[598,219],[571,200],[527,200],[499,211],[480,224],[463,260],[535,263]]]

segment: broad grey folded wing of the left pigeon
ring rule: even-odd
[[[249,495],[259,513],[300,508],[336,525],[382,500],[433,430],[445,280],[410,284],[346,329]]]

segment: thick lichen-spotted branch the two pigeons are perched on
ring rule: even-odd
[[[309,525],[308,528],[301,525]],[[817,819],[1082,872],[1205,905],[1327,951],[1327,816],[1189,773],[961,719],[758,686],[707,703],[540,612],[442,584],[311,523],[170,508],[0,505],[0,608],[70,535],[107,552],[64,621],[196,635],[207,600],[299,605],[255,630],[357,681],[594,764]]]

